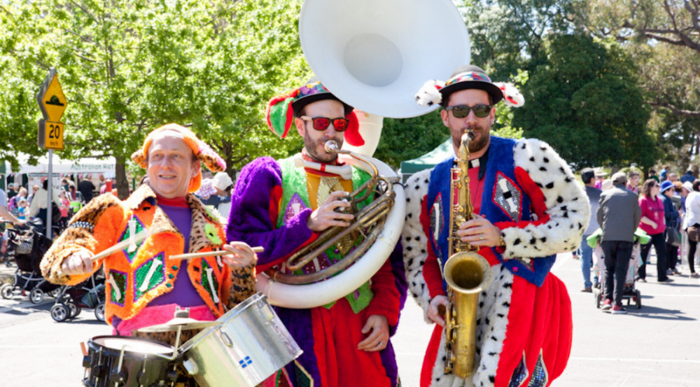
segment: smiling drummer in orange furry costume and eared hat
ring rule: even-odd
[[[101,195],[81,209],[44,256],[42,274],[52,283],[76,285],[104,266],[106,321],[127,336],[166,323],[176,307],[190,308],[190,318],[213,321],[253,295],[255,253],[243,242],[227,243],[219,214],[193,195],[202,163],[219,172],[226,169],[224,160],[176,124],[148,134],[132,160],[146,169],[148,183],[125,201]],[[134,241],[144,230],[148,237]],[[93,262],[94,255],[129,240],[130,246]],[[170,258],[216,250],[229,254]],[[159,339],[173,344],[174,335]]]

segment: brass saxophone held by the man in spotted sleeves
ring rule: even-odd
[[[459,145],[457,167],[451,169],[449,259],[442,275],[447,282],[449,304],[445,311],[444,372],[465,379],[474,372],[476,318],[479,293],[491,283],[491,265],[477,254],[478,247],[461,241],[459,225],[474,218],[469,190],[469,142],[474,133],[466,130]]]

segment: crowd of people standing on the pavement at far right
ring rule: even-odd
[[[632,281],[647,281],[652,247],[657,255],[656,280],[672,282],[669,276],[680,275],[679,248],[682,234],[687,235],[687,262],[689,276],[697,278],[694,257],[700,227],[700,180],[692,170],[678,177],[664,166],[657,176],[649,170],[649,178],[640,185],[640,172],[617,172],[610,179],[601,169],[586,168],[581,179],[591,205],[591,220],[584,233],[580,250],[574,258],[580,258],[583,273],[582,292],[591,292],[601,286],[598,276],[591,281],[594,265],[591,235],[596,238],[603,255],[603,311],[624,314],[622,291],[626,273],[632,264],[636,273]],[[640,236],[643,239],[640,239]],[[647,240],[641,243],[641,240]],[[640,245],[638,251],[633,246]],[[635,252],[635,253],[633,253]],[[631,263],[630,263],[631,262]],[[637,265],[638,264],[638,265]]]

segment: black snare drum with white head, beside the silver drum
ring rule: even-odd
[[[87,346],[87,387],[174,386],[176,364],[167,359],[172,358],[172,346],[127,336],[98,336]]]

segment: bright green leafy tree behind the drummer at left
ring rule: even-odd
[[[209,141],[229,172],[298,146],[276,139],[263,112],[267,99],[309,73],[297,39],[299,9],[298,0],[11,3],[0,11],[12,30],[0,57],[18,64],[21,92],[29,95],[48,66],[58,69],[69,99],[62,157],[116,157],[125,197],[130,154],[167,122]],[[36,127],[29,122],[38,109],[20,117],[17,129],[25,132]]]

